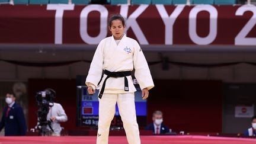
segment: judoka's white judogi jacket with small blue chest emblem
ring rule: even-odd
[[[122,37],[119,44],[116,44],[114,37],[103,39],[95,51],[94,58],[88,72],[86,84],[93,84],[97,87],[100,81],[102,70],[110,72],[133,71],[135,68],[135,77],[139,82],[140,88],[151,89],[154,87],[151,73],[148,68],[145,56],[136,40],[129,37]],[[104,79],[99,85],[103,85]],[[132,76],[127,76],[129,91],[124,91],[124,78],[108,78],[105,83],[104,93],[127,93],[135,92]]]

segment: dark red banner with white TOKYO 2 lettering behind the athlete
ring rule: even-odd
[[[140,44],[256,45],[255,5],[1,5],[0,43],[98,44],[112,14]]]

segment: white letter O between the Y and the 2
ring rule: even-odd
[[[210,28],[209,34],[206,37],[198,36],[196,29],[196,21],[197,21],[197,14],[201,11],[207,11],[210,14]],[[217,9],[212,5],[196,5],[194,8],[191,9],[189,14],[189,36],[190,39],[196,44],[210,44],[212,43],[217,36]]]

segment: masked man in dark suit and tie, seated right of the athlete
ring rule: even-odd
[[[145,127],[145,130],[152,130],[153,134],[165,134],[169,133],[169,127],[165,126],[163,122],[163,114],[162,111],[155,111],[152,117],[153,123],[149,124]]]

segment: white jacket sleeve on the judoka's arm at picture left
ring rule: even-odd
[[[89,72],[87,75],[87,79],[85,84],[87,86],[94,85],[98,86],[98,82],[101,79],[101,75],[103,72],[103,40],[98,44],[98,47],[94,53],[94,57],[91,62],[91,66],[89,68]],[[93,87],[94,88],[94,87]]]

